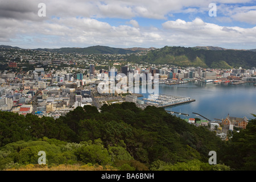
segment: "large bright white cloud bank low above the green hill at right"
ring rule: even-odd
[[[180,45],[225,45],[230,48],[239,44],[249,44],[250,46],[256,44],[256,40],[251,39],[252,36],[256,36],[256,32],[254,32],[256,27],[222,27],[213,23],[205,23],[196,18],[192,22],[185,22],[180,19],[167,21],[163,23],[163,28],[165,32],[168,30],[170,32],[168,40]]]

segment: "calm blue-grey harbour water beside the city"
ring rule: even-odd
[[[256,114],[256,86],[255,83],[241,85],[213,84],[201,81],[189,82],[179,85],[159,85],[159,94],[170,96],[191,97],[195,102],[165,107],[168,111],[189,114],[188,116],[176,114],[180,118],[201,118],[199,113],[214,121],[225,118],[228,114],[232,117],[254,118]],[[149,93],[141,93],[147,98]]]

